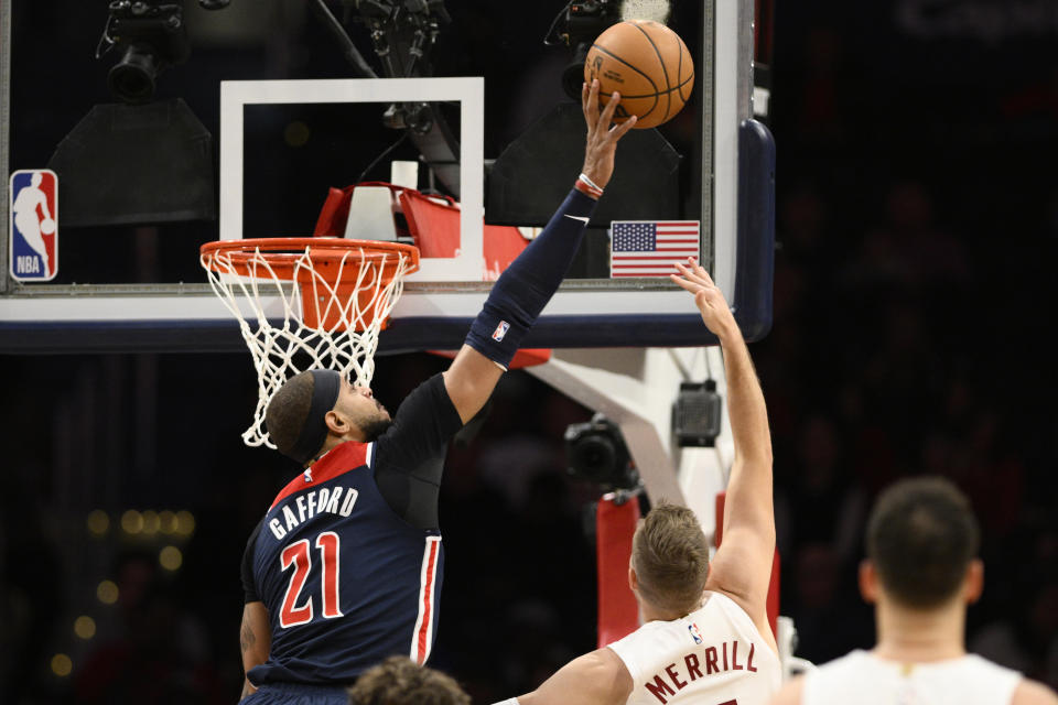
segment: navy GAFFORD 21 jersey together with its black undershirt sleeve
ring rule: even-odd
[[[248,673],[255,686],[350,683],[389,655],[427,660],[444,552],[440,531],[404,509],[432,497],[435,517],[431,478],[440,480],[445,442],[461,425],[436,376],[377,442],[333,448],[279,494],[244,558],[247,600],[264,603],[272,630],[268,661]],[[408,482],[380,490],[400,478],[411,491]]]

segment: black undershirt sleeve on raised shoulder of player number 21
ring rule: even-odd
[[[444,378],[408,394],[393,425],[378,437],[373,468],[386,503],[419,529],[438,528],[438,496],[449,441],[463,426]]]

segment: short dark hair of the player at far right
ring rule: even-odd
[[[878,497],[866,543],[886,594],[906,607],[930,609],[959,590],[981,530],[958,487],[919,477],[900,480]]]

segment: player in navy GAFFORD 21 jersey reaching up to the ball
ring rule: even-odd
[[[244,702],[345,703],[390,655],[423,663],[438,625],[444,552],[438,491],[445,446],[485,404],[558,289],[609,182],[619,96],[585,85],[584,166],[543,231],[504,272],[449,369],[397,413],[366,387],[312,370],[269,402],[272,442],[303,468],[255,529],[242,561]],[[255,692],[256,691],[256,692]]]

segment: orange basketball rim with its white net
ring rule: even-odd
[[[233,241],[239,242],[239,241]],[[276,447],[264,411],[283,382],[310,369],[332,369],[356,384],[375,375],[378,334],[414,271],[414,248],[342,240],[274,251],[277,246],[203,248],[214,292],[239,322],[258,373],[249,446]]]

